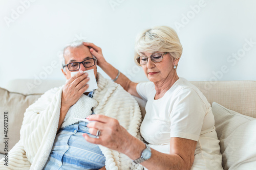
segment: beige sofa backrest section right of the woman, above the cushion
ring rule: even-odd
[[[191,82],[208,102],[256,118],[256,81]]]

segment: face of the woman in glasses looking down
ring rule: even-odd
[[[144,52],[144,54],[147,57],[152,55],[152,53],[146,52]],[[163,56],[163,60],[158,63],[154,63],[151,58],[148,58],[147,63],[145,65],[142,65],[142,68],[148,80],[150,80],[151,82],[159,82],[173,77],[173,62],[173,58],[170,56],[169,53],[167,53]]]

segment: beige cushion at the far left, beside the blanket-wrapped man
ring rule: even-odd
[[[22,127],[25,110],[29,105],[33,104],[41,94],[24,95],[22,93],[10,92],[0,87],[0,96],[0,137],[2,140],[4,139],[4,141],[8,141],[9,152],[19,140],[19,131],[20,127]],[[4,126],[8,126],[6,134]],[[5,143],[3,141],[0,142],[0,153],[6,153]]]

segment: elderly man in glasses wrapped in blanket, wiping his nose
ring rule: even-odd
[[[62,72],[67,82],[47,91],[24,114],[20,140],[9,152],[10,169],[141,169],[141,165],[117,151],[84,140],[87,133],[100,138],[100,131],[90,129],[86,118],[103,114],[117,119],[133,136],[138,136],[141,114],[136,100],[114,81],[97,73],[96,58],[83,41],[63,49]],[[98,88],[88,89],[88,74],[94,69]],[[71,76],[71,72],[78,71]],[[104,130],[101,133],[108,133]]]

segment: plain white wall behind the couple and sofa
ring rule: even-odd
[[[145,81],[133,60],[134,41],[158,25],[178,32],[180,77],[255,81],[255,7],[253,0],[0,0],[0,86],[11,79],[64,79],[57,53],[80,38],[99,45],[133,81]]]

